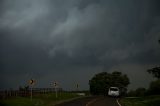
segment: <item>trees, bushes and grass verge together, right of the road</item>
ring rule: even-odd
[[[160,106],[160,67],[147,72],[157,79],[150,83],[148,89],[137,88],[129,91],[127,97],[120,100],[122,106]]]

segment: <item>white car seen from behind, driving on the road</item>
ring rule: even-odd
[[[108,95],[113,97],[120,96],[120,91],[118,87],[110,87],[108,90]]]

